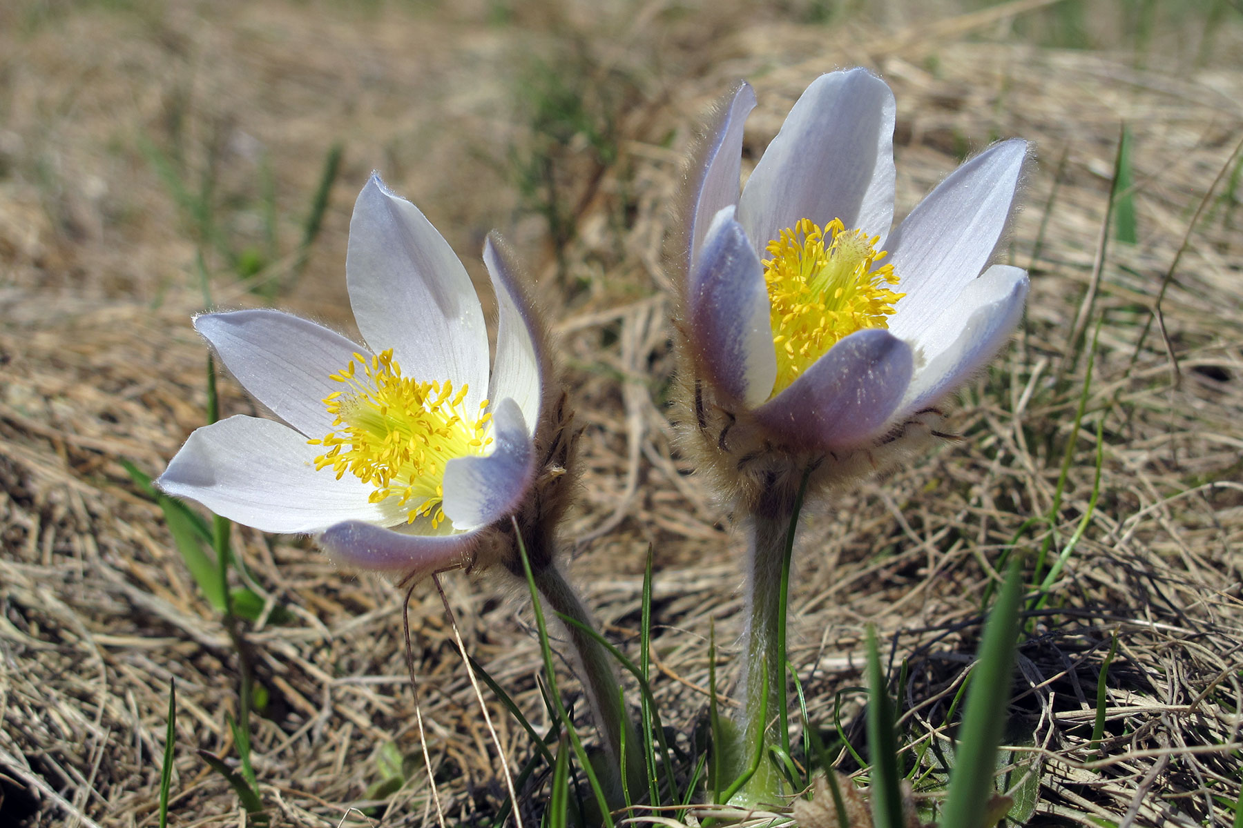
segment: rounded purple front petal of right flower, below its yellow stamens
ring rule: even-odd
[[[881,328],[854,333],[771,402],[761,421],[800,447],[853,448],[879,436],[911,379],[910,346]]]

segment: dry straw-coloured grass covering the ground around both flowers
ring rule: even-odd
[[[1049,4],[961,15],[886,4],[829,24],[809,22],[820,6],[799,2],[6,5],[0,823],[37,806],[31,824],[154,824],[172,679],[173,823],[241,822],[232,793],[194,755],[230,751],[229,638],[159,509],[121,466],[158,472],[203,423],[205,403],[204,349],[188,324],[203,304],[196,230],[150,146],[183,158],[194,186],[214,171],[218,225],[235,250],[265,243],[256,181],[270,170],[277,246],[288,251],[322,159],[343,142],[324,231],[296,287],[287,258],[259,278],[277,286],[281,307],[346,330],[348,212],[372,168],[467,258],[493,226],[518,243],[559,320],[585,423],[580,506],[566,528],[574,575],[608,634],[631,642],[654,547],[658,695],[666,721],[689,734],[706,704],[709,623],[732,641],[741,576],[728,515],[686,475],[663,405],[671,365],[660,250],[680,153],[735,77],[751,78],[759,97],[747,125],[755,159],[815,73],[863,63],[897,96],[900,211],[993,137],[1035,142],[1009,253],[1030,267],[1033,294],[1016,346],[965,396],[953,421],[962,441],[804,520],[791,657],[812,716],[827,721],[835,694],[859,683],[863,631],[875,622],[910,664],[895,689],[911,737],[937,737],[991,565],[1024,520],[1049,513],[1068,441],[1054,550],[1073,533],[1093,492],[1101,421],[1100,499],[1019,658],[1017,705],[1035,734],[1027,755],[1044,773],[1035,819],[1231,824],[1222,801],[1239,796],[1243,749],[1238,191],[1188,237],[1165,293],[1166,336],[1155,325],[1140,335],[1243,132],[1243,26],[1226,11],[1206,37],[1204,15],[1188,12],[1137,47],[1119,31],[1120,6],[1101,2],[1086,15],[1091,48],[1068,50],[1048,45],[1066,37],[1068,17],[1030,11],[1039,5]],[[579,120],[564,106],[539,120],[557,92],[549,77],[569,89]],[[1111,245],[1098,273],[1121,120],[1135,139],[1140,243]],[[549,143],[563,122],[568,140]],[[515,169],[536,171],[526,190]],[[210,240],[205,248],[218,304],[261,302]],[[1076,319],[1099,313],[1089,413],[1071,433],[1086,364],[1071,335]],[[254,410],[231,382],[221,394],[226,412]],[[1030,529],[1019,547],[1038,547],[1047,530]],[[255,721],[264,797],[281,824],[373,824],[348,808],[378,780],[377,751],[389,741],[418,751],[400,596],[295,539],[237,528],[234,541],[255,588],[291,613],[249,634],[271,694]],[[467,646],[539,726],[530,612],[493,583],[446,586]],[[505,787],[430,585],[410,611],[446,814],[486,821]],[[1098,750],[1098,675],[1115,636]],[[525,758],[521,731],[498,705],[495,715],[511,757]],[[384,822],[426,823],[428,792],[416,770]]]

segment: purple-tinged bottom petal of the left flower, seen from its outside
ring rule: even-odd
[[[316,540],[342,566],[419,580],[467,566],[480,538],[479,533],[414,535],[348,520],[329,526]]]

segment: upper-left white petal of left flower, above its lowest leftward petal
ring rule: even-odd
[[[195,318],[194,329],[246,391],[307,437],[332,431],[323,398],[341,384],[328,377],[355,351],[370,356],[341,334],[280,310],[208,313]]]

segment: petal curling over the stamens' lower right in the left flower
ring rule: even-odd
[[[487,457],[459,457],[445,464],[445,516],[454,529],[477,529],[513,513],[531,488],[534,446],[513,400],[492,408],[492,439]]]

